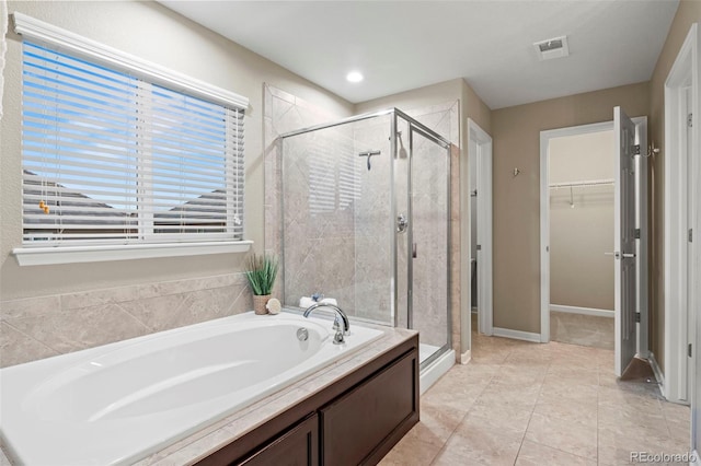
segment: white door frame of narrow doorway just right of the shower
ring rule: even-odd
[[[478,193],[478,238],[481,238],[478,259],[478,325],[479,331],[491,336],[494,333],[493,310],[493,275],[492,275],[492,137],[484,131],[472,118],[468,118],[468,154],[475,158],[476,184],[470,184],[470,193]],[[475,149],[472,153],[472,149]],[[474,219],[472,202],[469,201],[470,225]],[[470,264],[468,270],[472,271],[472,228],[469,231]],[[470,290],[472,288],[470,287]],[[471,307],[472,296],[468,303]],[[470,313],[472,310],[470,310]],[[470,325],[472,319],[470,319]]]

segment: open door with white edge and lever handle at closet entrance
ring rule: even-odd
[[[621,107],[613,108],[616,138],[616,206],[613,226],[616,375],[621,375],[636,351],[635,313],[635,125]]]

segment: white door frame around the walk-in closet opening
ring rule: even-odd
[[[611,107],[611,113],[613,107]],[[641,147],[647,145],[647,117],[631,118],[635,124],[640,139],[644,141]],[[587,135],[613,130],[613,120],[594,123],[589,125],[571,126],[566,128],[549,129],[540,131],[540,341],[550,341],[550,140],[566,136]],[[640,141],[637,141],[640,143]],[[639,312],[641,324],[637,326],[637,351],[646,356],[647,350],[647,164],[637,165],[636,182],[640,206],[639,221],[641,226],[641,240],[639,242],[640,255],[636,261],[637,277],[640,277],[637,290]],[[644,337],[644,338],[643,338]],[[616,335],[614,338],[620,338]]]

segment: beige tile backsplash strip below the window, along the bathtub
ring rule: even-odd
[[[0,302],[0,366],[251,310],[243,273]]]

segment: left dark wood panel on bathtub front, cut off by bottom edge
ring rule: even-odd
[[[245,466],[318,466],[319,416],[311,415],[268,445],[235,464]]]

